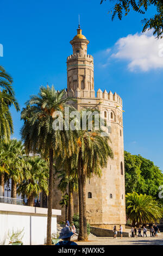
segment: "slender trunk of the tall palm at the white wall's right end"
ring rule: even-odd
[[[52,244],[52,193],[53,193],[53,149],[49,149],[49,188],[48,188],[48,214],[47,214],[47,245]]]

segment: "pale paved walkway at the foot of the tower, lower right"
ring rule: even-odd
[[[73,239],[72,239],[73,240]],[[159,233],[158,237],[93,237],[87,242],[77,242],[78,245],[163,245],[163,233]]]

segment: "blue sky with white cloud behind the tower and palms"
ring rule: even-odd
[[[95,90],[123,99],[124,149],[141,154],[163,170],[162,70],[158,47],[163,41],[141,34],[144,16],[131,13],[111,22],[110,4],[100,0],[5,0],[1,3],[3,57],[0,64],[14,78],[21,108],[41,85],[66,88],[66,58],[76,34],[78,14],[94,57]],[[151,8],[146,17],[153,14]],[[163,47],[163,46],[162,46]],[[20,113],[11,109],[14,137],[20,138]]]

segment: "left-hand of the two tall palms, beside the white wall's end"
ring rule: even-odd
[[[49,158],[49,194],[48,194],[48,219],[47,219],[47,245],[51,245],[51,220],[52,220],[52,191],[53,191],[53,164],[54,154],[62,155],[73,153],[73,134],[71,131],[53,130],[55,111],[63,111],[66,102],[65,90],[57,92],[54,87],[40,87],[36,96],[31,96],[26,102],[26,108],[21,113],[24,125],[21,129],[22,140],[26,151],[42,153]]]

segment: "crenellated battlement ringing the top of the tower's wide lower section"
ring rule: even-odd
[[[75,90],[75,91],[70,89],[70,90],[68,90],[68,96],[116,101],[118,104],[120,104],[122,106],[122,99],[121,99],[120,95],[118,95],[116,92],[113,94],[111,91],[108,93],[106,90],[104,90],[104,92],[102,92],[101,89],[97,90],[97,96],[95,96],[95,90],[91,90],[90,92],[88,92],[86,90],[80,90],[79,88],[77,88],[77,90]]]

